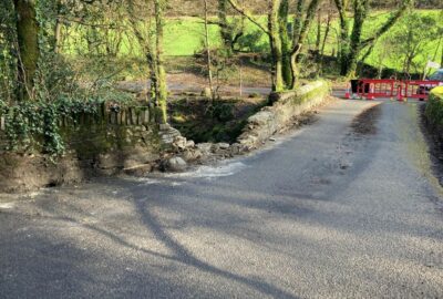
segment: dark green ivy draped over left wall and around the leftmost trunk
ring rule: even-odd
[[[61,120],[75,122],[75,115],[95,115],[103,102],[122,103],[133,99],[103,82],[87,89],[76,84],[70,65],[55,51],[55,27],[62,8],[54,0],[34,0],[33,6],[25,7],[33,8],[38,23],[38,60],[32,91],[27,91],[30,94],[24,100],[20,99],[17,92],[20,33],[16,28],[19,12],[12,0],[3,1],[7,6],[0,6],[0,115],[6,125],[8,150],[61,155],[65,151]]]

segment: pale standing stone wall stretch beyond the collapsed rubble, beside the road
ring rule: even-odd
[[[238,143],[247,148],[258,147],[274,134],[291,126],[295,117],[322,104],[329,93],[329,84],[317,81],[297,91],[271,94],[272,105],[249,117]]]

